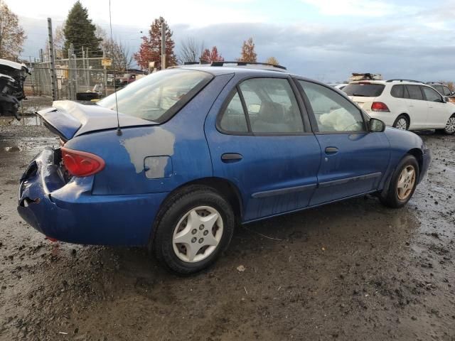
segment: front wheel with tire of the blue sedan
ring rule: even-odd
[[[390,179],[388,188],[380,195],[387,207],[400,208],[410,201],[419,181],[419,164],[412,155],[405,156]]]

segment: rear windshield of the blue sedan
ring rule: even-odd
[[[152,73],[117,91],[119,112],[161,123],[175,114],[212,80],[198,70],[173,69]],[[97,102],[116,110],[115,94]]]

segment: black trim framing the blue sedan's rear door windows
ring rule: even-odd
[[[225,134],[225,135],[238,135],[238,136],[300,136],[300,135],[312,135],[313,134],[313,131],[311,129],[311,126],[308,126],[306,124],[306,120],[304,119],[304,112],[301,108],[301,104],[300,104],[300,92],[298,90],[295,90],[294,89],[294,82],[292,81],[292,78],[287,75],[287,76],[282,76],[282,75],[279,75],[280,77],[277,77],[275,75],[260,75],[260,76],[247,76],[247,77],[244,77],[242,79],[240,79],[237,84],[235,85],[235,87],[232,87],[232,90],[230,90],[228,96],[226,97],[225,101],[223,102],[223,105],[221,106],[221,109],[220,109],[220,112],[218,112],[217,114],[217,117],[216,117],[216,120],[215,120],[215,128],[221,133],[221,134]],[[242,84],[242,82],[245,82],[245,80],[252,80],[252,79],[257,79],[257,78],[273,78],[273,79],[280,79],[280,80],[287,80],[287,82],[289,83],[289,87],[291,87],[291,90],[294,94],[294,97],[296,99],[296,102],[297,102],[297,107],[299,108],[299,112],[300,112],[300,117],[301,117],[301,120],[302,120],[302,124],[304,126],[304,131],[302,132],[294,132],[294,133],[254,133],[251,129],[251,124],[250,124],[250,117],[249,115],[247,114],[247,107],[246,107],[246,103],[245,103],[245,98],[243,97],[243,94],[242,94],[242,91],[240,90],[240,84]],[[296,93],[297,91],[297,93]],[[223,117],[223,114],[225,113],[226,109],[228,108],[229,104],[230,104],[230,101],[232,100],[232,98],[235,96],[235,93],[238,93],[239,94],[239,97],[240,97],[240,102],[242,103],[242,109],[243,109],[243,114],[245,114],[245,119],[247,120],[247,127],[248,127],[248,131],[226,131],[225,129],[223,129],[221,126],[220,126],[220,122],[221,122],[221,119]],[[300,96],[299,96],[300,95]],[[308,114],[308,112],[306,111],[306,108],[305,108],[305,112],[306,114]],[[308,114],[309,116],[309,114]]]

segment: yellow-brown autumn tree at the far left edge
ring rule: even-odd
[[[0,0],[0,58],[16,60],[26,38],[18,16]]]

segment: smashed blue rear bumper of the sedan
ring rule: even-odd
[[[146,245],[167,193],[92,195],[95,177],[65,183],[46,148],[21,178],[18,213],[48,237],[76,244]]]

